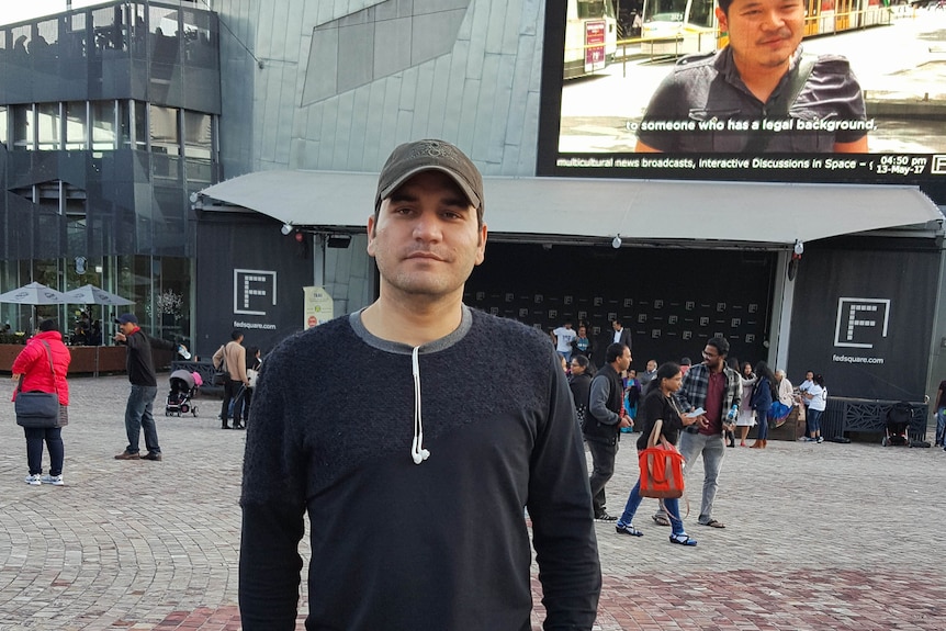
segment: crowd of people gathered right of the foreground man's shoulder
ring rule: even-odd
[[[586,323],[578,324],[578,335],[587,337],[587,330]],[[616,331],[613,338],[611,330]],[[613,475],[621,433],[640,430],[637,447],[643,450],[654,421],[660,418],[663,437],[678,446],[690,463],[687,471],[694,470],[697,460],[702,461],[703,481],[697,486],[701,488],[697,522],[712,528],[725,527],[713,517],[713,504],[725,448],[736,447],[736,432],[740,447],[765,449],[769,428],[781,427],[797,410],[799,420],[806,419],[800,440],[824,440],[820,418],[825,409],[827,390],[822,375],[809,372],[806,381],[795,388],[784,370],[773,371],[765,361],[740,363],[731,358],[729,342],[721,337],[707,341],[702,362],[696,365],[688,357],[682,358],[679,363],[661,365],[650,359],[645,370],[638,373],[631,368],[630,333],[619,323],[611,330],[604,340],[609,343],[589,345],[582,352],[575,349],[577,336],[565,333],[575,333],[572,323],[552,331],[552,339],[563,358],[571,357],[567,364],[563,360],[563,369],[570,374],[576,415],[592,460],[589,486],[595,519],[613,522],[619,534],[643,534],[633,525],[641,503],[640,481],[631,488],[620,517],[607,510],[605,488]],[[596,349],[602,346],[604,353],[596,356]],[[600,365],[597,369],[596,358]],[[946,394],[941,392],[943,397]],[[943,415],[946,419],[946,407]],[[756,437],[748,444],[746,440],[753,427]],[[653,519],[672,527],[672,543],[696,545],[696,540],[683,527],[675,499],[661,500]]]

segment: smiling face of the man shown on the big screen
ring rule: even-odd
[[[804,34],[802,0],[733,0],[716,12],[741,72],[785,68]]]

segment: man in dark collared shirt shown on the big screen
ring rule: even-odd
[[[718,0],[722,50],[684,57],[638,131],[638,151],[866,153],[847,59],[802,56],[802,0]]]

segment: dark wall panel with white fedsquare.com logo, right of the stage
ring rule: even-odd
[[[901,240],[886,251],[806,249],[791,314],[793,383],[812,370],[835,396],[923,401],[939,256],[893,251]]]

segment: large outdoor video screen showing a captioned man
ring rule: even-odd
[[[946,203],[946,11],[785,11],[769,1],[550,2],[539,174],[919,184]],[[758,69],[793,37],[774,88]]]

